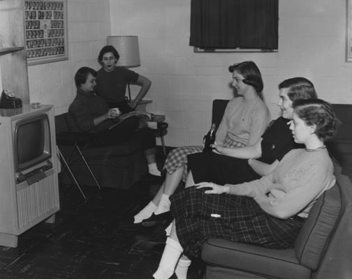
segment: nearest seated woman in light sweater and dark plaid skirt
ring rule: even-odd
[[[293,107],[290,129],[305,149],[288,152],[261,179],[225,186],[199,183],[170,197],[175,221],[152,278],[170,278],[175,269],[177,278],[186,278],[188,258],[199,257],[208,237],[277,249],[293,246],[311,206],[335,185],[324,142],[338,126],[323,100],[296,100]]]

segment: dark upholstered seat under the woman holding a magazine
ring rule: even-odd
[[[81,133],[71,113],[66,112],[55,116],[55,130],[60,151],[65,158],[70,158],[71,146],[66,141],[58,139],[65,138],[60,135],[69,136],[69,133]],[[85,137],[85,133],[81,134]],[[87,138],[91,137],[89,133],[86,135]],[[138,142],[101,146],[92,140],[81,146],[81,149],[101,187],[127,189],[133,183],[141,181],[147,174],[147,161]],[[70,161],[70,167],[80,185],[96,186],[89,170],[77,153],[72,154]],[[72,183],[72,178],[65,169],[61,172],[61,183]]]

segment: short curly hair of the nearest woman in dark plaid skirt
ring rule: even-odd
[[[316,126],[315,134],[323,142],[331,140],[336,134],[340,121],[330,103],[321,99],[298,99],[293,102],[293,108],[308,126]]]

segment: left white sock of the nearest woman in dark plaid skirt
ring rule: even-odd
[[[155,279],[170,278],[175,272],[176,264],[182,252],[183,248],[179,242],[168,237],[168,239],[166,239],[166,246],[163,250],[159,267],[153,274],[153,277]]]

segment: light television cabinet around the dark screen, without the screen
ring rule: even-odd
[[[49,121],[50,156],[18,171],[17,123],[43,114]],[[60,209],[54,110],[52,105],[34,109],[27,104],[20,110],[0,109],[0,123],[0,246],[15,248],[20,234],[44,220],[53,223]]]

